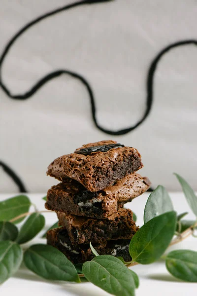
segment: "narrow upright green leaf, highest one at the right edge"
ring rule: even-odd
[[[185,181],[180,175],[178,175],[176,173],[174,173],[174,175],[177,177],[179,183],[182,186],[183,192],[185,194],[185,197],[188,201],[188,204],[189,204],[191,210],[193,211],[193,213],[197,217],[197,196],[195,195],[194,190],[187,183],[187,181]]]

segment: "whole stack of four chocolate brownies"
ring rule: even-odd
[[[135,172],[143,167],[135,148],[115,141],[83,145],[55,159],[47,175],[62,183],[48,190],[46,209],[59,225],[47,232],[47,243],[73,263],[91,260],[90,242],[99,253],[130,261],[129,243],[138,227],[124,204],[150,187]]]

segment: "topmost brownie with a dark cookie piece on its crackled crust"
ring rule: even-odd
[[[89,191],[99,191],[141,169],[137,149],[115,141],[100,141],[78,148],[74,153],[56,158],[47,175],[64,182],[74,179]]]

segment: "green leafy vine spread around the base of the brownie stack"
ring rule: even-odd
[[[181,176],[176,176],[197,217],[197,196],[194,190]],[[46,197],[43,199],[46,201]],[[29,212],[31,206],[33,211]],[[136,273],[127,267],[153,263],[158,259],[165,261],[167,270],[176,278],[197,282],[197,252],[176,250],[165,253],[167,248],[190,235],[197,237],[197,220],[184,220],[188,212],[177,216],[169,194],[161,185],[150,194],[144,210],[144,225],[131,238],[130,262],[125,262],[122,257],[99,256],[91,243],[91,250],[96,257],[84,264],[75,265],[60,250],[50,245],[37,244],[24,250],[20,245],[32,240],[45,225],[45,218],[41,213],[50,212],[52,211],[38,211],[36,205],[25,195],[0,202],[0,284],[18,270],[23,259],[28,269],[45,279],[78,283],[80,278],[85,277],[116,296],[134,296],[134,289],[139,286]],[[18,229],[15,224],[26,217],[28,218]],[[56,230],[58,227],[61,227],[59,222],[54,223],[42,237],[46,237],[49,230]],[[8,273],[4,272],[4,266]]]

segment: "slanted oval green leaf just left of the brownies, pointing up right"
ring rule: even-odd
[[[21,227],[17,243],[24,244],[33,239],[33,237],[35,237],[44,227],[44,224],[44,216],[39,213],[33,213]]]

